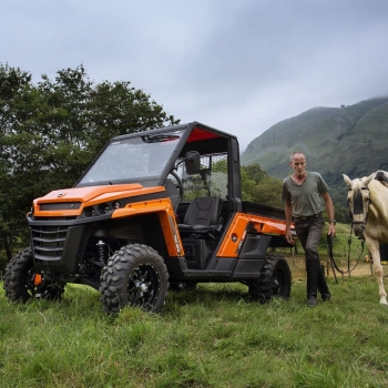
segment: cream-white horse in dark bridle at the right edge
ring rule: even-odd
[[[343,176],[349,186],[348,205],[355,235],[365,238],[367,243],[374,259],[380,304],[388,306],[379,251],[380,244],[388,243],[388,173],[377,171],[367,177],[353,181],[345,174]]]

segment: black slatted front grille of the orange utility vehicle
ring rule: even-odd
[[[33,226],[31,228],[33,255],[42,261],[59,261],[62,257],[68,226]]]

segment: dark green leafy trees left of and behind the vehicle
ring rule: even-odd
[[[55,80],[0,64],[0,238],[28,236],[31,201],[74,184],[110,137],[177,124],[130,82],[94,84],[82,65]]]

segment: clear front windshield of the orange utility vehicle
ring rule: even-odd
[[[114,141],[78,184],[157,176],[165,167],[178,140],[180,131],[174,131]]]

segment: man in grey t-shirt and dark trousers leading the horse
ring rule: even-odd
[[[294,152],[289,165],[294,173],[283,181],[282,193],[282,200],[286,203],[286,239],[288,243],[293,243],[290,224],[294,217],[295,232],[306,256],[307,306],[315,307],[317,305],[317,290],[320,292],[324,302],[330,300],[330,292],[320,266],[317,247],[325,226],[323,202],[325,202],[329,218],[327,234],[334,236],[336,233],[334,205],[328,194],[329,187],[320,174],[306,171],[304,153]]]

